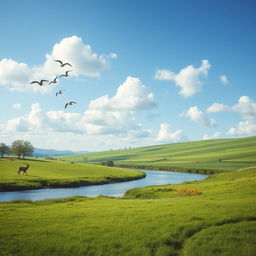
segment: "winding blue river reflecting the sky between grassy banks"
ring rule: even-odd
[[[147,176],[144,179],[121,182],[115,184],[83,186],[77,188],[56,188],[37,189],[18,192],[0,192],[0,201],[10,201],[16,199],[43,200],[49,198],[64,198],[69,196],[113,196],[121,197],[128,189],[139,188],[152,185],[178,184],[184,181],[202,180],[206,175],[165,172],[165,171],[144,171]]]

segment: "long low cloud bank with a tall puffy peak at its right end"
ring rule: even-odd
[[[32,104],[25,116],[7,121],[9,132],[32,133],[72,132],[86,134],[125,134],[147,137],[150,131],[136,121],[136,112],[150,110],[156,105],[154,95],[140,79],[127,77],[113,97],[92,100],[84,114],[64,111],[44,112],[38,103]]]

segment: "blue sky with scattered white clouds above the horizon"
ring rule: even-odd
[[[238,0],[3,2],[0,142],[99,151],[256,135],[255,11]]]

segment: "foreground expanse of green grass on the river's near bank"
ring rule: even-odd
[[[256,255],[256,169],[0,208],[1,256]]]

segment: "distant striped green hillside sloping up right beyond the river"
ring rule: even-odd
[[[91,163],[113,160],[117,165],[162,169],[230,171],[256,165],[256,136],[165,144],[59,158]]]

